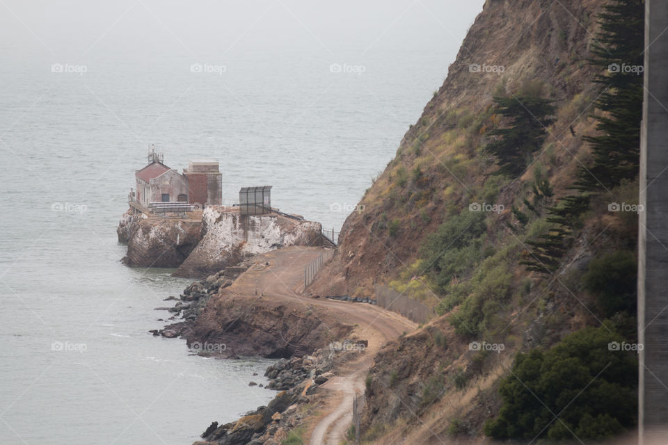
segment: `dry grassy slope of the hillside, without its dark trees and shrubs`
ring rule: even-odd
[[[594,133],[589,114],[597,94],[591,82],[596,73],[587,57],[596,33],[594,15],[604,1],[550,3],[486,2],[445,83],[363,197],[364,211],[347,218],[340,254],[314,285],[319,293],[363,296],[372,293],[376,282],[392,282],[435,305],[448,296],[435,293],[433,280],[424,274],[427,265],[417,254],[424,237],[467,212],[472,202],[505,208],[486,214],[484,248],[490,256],[463,277],[470,285],[460,289],[453,311],[390,343],[376,358],[364,416],[369,440],[385,443],[384,435],[400,434],[412,443],[438,443],[436,436],[479,435],[484,420],[500,406],[495,388],[516,350],[549,346],[602,319],[580,277],[595,250],[633,243],[633,216],[608,213],[607,202],[633,202],[636,184],[592,204],[555,275],[527,273],[518,265],[527,239],[546,227],[544,207],[535,215],[523,204],[532,195],[536,169],[554,187],[555,197],[545,204],[554,204],[568,194],[578,165],[587,163],[589,149],[582,136]],[[504,73],[470,72],[470,63],[503,65]],[[498,123],[491,112],[493,95],[514,95],[539,88],[539,83],[558,106],[543,149],[520,178],[489,176],[493,162],[480,149]],[[509,211],[513,205],[530,216],[525,227]],[[503,291],[495,293],[499,286]],[[474,317],[475,327],[457,333],[450,321],[461,316],[457,305],[467,299],[477,299],[471,304],[482,315]],[[502,342],[506,350],[471,352],[472,340]]]

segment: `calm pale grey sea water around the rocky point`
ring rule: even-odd
[[[29,28],[49,16],[10,5]],[[189,283],[118,262],[116,225],[147,145],[172,168],[220,161],[225,200],[271,184],[274,206],[338,230],[442,83],[474,17],[455,20],[456,38],[424,10],[406,14],[408,29],[342,25],[346,38],[325,42],[293,23],[292,44],[263,46],[250,30],[255,44],[224,56],[175,41],[167,51],[145,35],[110,43],[145,15],[129,10],[118,33],[78,56],[63,48],[90,47],[100,29],[82,22],[86,40],[37,26],[39,42],[13,15],[0,20],[1,444],[189,444],[210,421],[266,404],[272,391],[248,382],[264,382],[267,360],[195,357],[184,341],[147,333],[164,325],[154,307]],[[147,26],[175,40],[165,20]],[[387,44],[406,41],[399,31],[419,37]],[[385,37],[363,51],[356,33],[366,44]],[[51,72],[53,63],[75,72]]]

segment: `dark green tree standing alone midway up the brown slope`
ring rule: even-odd
[[[509,120],[508,126],[493,129],[493,140],[483,152],[494,156],[498,173],[516,177],[529,163],[547,136],[546,127],[554,122],[555,106],[549,99],[532,96],[494,97],[494,113]]]

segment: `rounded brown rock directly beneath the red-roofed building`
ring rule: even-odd
[[[123,213],[116,229],[127,243],[123,264],[131,267],[180,266],[201,238],[199,220],[148,218],[134,209]]]

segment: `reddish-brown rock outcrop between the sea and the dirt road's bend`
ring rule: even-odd
[[[344,338],[351,332],[352,325],[335,323],[324,314],[318,316],[308,311],[296,311],[294,305],[285,301],[261,295],[249,298],[230,292],[229,286],[241,273],[261,266],[263,264],[247,259],[204,280],[193,282],[184,289],[180,298],[166,299],[175,300],[173,307],[156,308],[174,314],[168,319],[174,323],[151,333],[167,338],[184,338],[191,350],[200,355],[285,358],[302,357],[323,348],[331,339]],[[177,321],[177,316],[181,317],[180,321]],[[225,346],[214,351],[196,350],[196,346],[201,345]],[[296,379],[296,376],[284,377],[286,380]],[[293,381],[287,383],[292,384]]]

